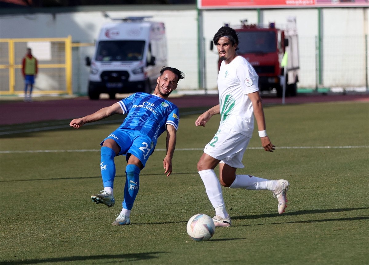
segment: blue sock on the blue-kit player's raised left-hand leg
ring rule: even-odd
[[[103,184],[105,187],[113,187],[115,177],[115,152],[110,147],[101,147],[101,177],[103,177]]]

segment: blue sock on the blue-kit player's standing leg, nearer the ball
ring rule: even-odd
[[[131,210],[133,207],[139,188],[139,172],[140,169],[137,165],[130,164],[125,168],[127,179],[125,180],[124,201],[122,204],[124,209]]]

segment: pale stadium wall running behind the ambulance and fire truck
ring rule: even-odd
[[[72,36],[73,43],[93,43],[108,16],[152,16],[166,25],[168,64],[186,73],[178,90],[198,90],[198,11],[194,5],[179,6],[99,6],[93,8],[39,8],[30,13],[0,14],[0,38],[61,38]],[[216,89],[217,54],[209,43],[224,23],[275,22],[283,27],[295,16],[300,46],[299,88],[368,86],[369,8],[279,8],[247,10],[203,10],[204,72],[207,91]],[[320,13],[321,12],[321,13]],[[108,16],[106,15],[108,14]],[[321,25],[319,15],[321,14]],[[321,80],[317,72],[317,38],[321,28]],[[89,67],[85,57],[93,46],[73,46],[73,93],[86,94]]]

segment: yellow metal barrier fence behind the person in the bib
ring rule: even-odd
[[[93,43],[72,43],[67,38],[15,38],[0,39],[0,95],[24,93],[21,74],[22,59],[29,43],[48,43],[49,58],[38,60],[38,77],[34,84],[34,94],[69,94],[72,90],[72,47],[93,46]],[[36,43],[36,44],[35,44]],[[33,49],[32,49],[33,50]],[[52,82],[54,86],[49,85]],[[44,87],[41,87],[42,86]]]

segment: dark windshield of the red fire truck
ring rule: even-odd
[[[274,31],[241,31],[238,32],[237,53],[270,53],[276,52],[277,38]]]

